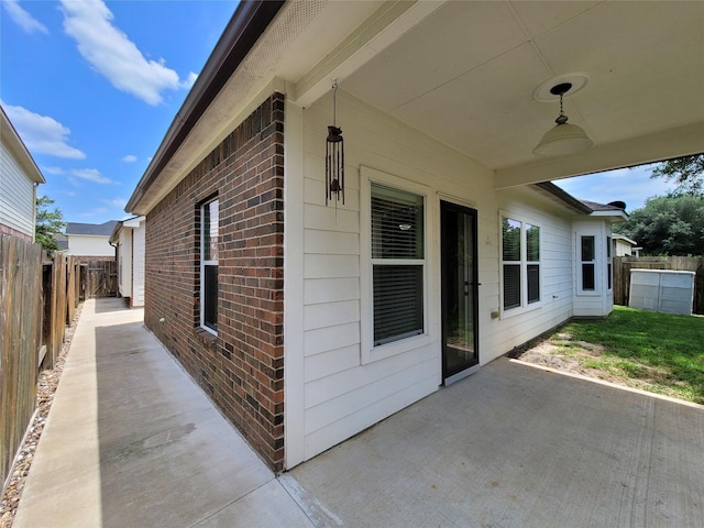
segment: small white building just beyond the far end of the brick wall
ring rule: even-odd
[[[118,294],[130,307],[144,306],[144,223],[135,217],[118,222],[110,235],[110,244],[118,254]]]

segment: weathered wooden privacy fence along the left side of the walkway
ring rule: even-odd
[[[78,306],[77,265],[0,235],[0,475],[3,488],[32,419],[41,367],[54,366]]]

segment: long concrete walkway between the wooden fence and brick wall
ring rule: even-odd
[[[13,526],[312,526],[142,318],[86,301]]]

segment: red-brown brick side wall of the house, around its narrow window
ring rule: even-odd
[[[199,328],[199,206],[218,196],[218,336]],[[284,463],[284,96],[146,217],[145,323],[274,471]],[[161,319],[163,318],[163,321]]]

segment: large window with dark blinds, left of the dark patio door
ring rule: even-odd
[[[371,185],[374,346],[424,333],[424,197]]]

